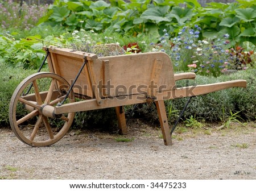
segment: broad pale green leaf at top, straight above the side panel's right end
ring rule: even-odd
[[[170,22],[171,19],[167,18],[168,10],[170,10],[170,6],[162,6],[149,8],[141,14],[142,19],[154,20],[156,24],[166,21]]]

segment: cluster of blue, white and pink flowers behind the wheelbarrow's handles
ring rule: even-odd
[[[194,28],[183,27],[178,36],[172,39],[164,31],[166,33],[160,38],[160,44],[152,44],[152,50],[166,52],[175,70],[220,76],[225,70],[231,69],[236,61],[236,57],[226,48],[229,35],[200,40],[200,31],[197,25]]]

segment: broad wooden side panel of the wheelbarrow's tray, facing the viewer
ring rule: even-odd
[[[109,61],[109,97],[147,93],[155,60],[163,60],[159,72],[158,90],[175,88],[174,72],[170,57],[164,52],[100,57],[94,64],[96,81],[101,80],[102,61]]]

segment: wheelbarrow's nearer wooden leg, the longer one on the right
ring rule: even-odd
[[[163,134],[164,144],[166,146],[172,145],[172,138],[170,134],[170,128],[168,125],[168,119],[166,115],[166,107],[164,106],[164,101],[156,101],[156,109],[158,110],[158,117],[161,125],[161,130]]]

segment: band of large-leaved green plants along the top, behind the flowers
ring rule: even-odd
[[[119,32],[154,38],[166,29],[174,36],[183,26],[198,24],[203,37],[230,34],[230,45],[243,41],[256,43],[256,0],[233,3],[208,3],[196,0],[123,0],[84,1],[56,0],[39,23],[64,26],[68,30]]]

